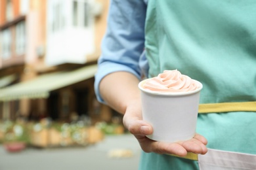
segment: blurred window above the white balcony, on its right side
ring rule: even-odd
[[[73,25],[88,27],[90,17],[90,6],[87,0],[74,0],[72,5]]]

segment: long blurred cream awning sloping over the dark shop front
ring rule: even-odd
[[[61,71],[37,76],[33,80],[0,89],[0,101],[22,98],[47,98],[53,90],[92,78],[96,73],[96,69],[96,65],[89,65],[75,71]]]

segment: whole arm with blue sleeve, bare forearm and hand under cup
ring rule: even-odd
[[[205,154],[207,141],[200,135],[189,141],[161,143],[148,139],[152,126],[142,120],[139,58],[144,48],[146,4],[142,0],[112,0],[108,29],[98,60],[95,92],[100,102],[110,105],[123,116],[124,126],[137,138],[144,152]]]

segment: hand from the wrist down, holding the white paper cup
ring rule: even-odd
[[[199,134],[196,134],[188,141],[179,141],[177,143],[164,143],[148,139],[146,135],[153,133],[153,128],[142,120],[142,111],[140,99],[127,105],[125,115],[123,116],[124,126],[137,138],[140,147],[144,152],[156,152],[158,154],[175,154],[177,156],[186,156],[187,152],[195,154],[205,154],[207,152],[207,140]]]

